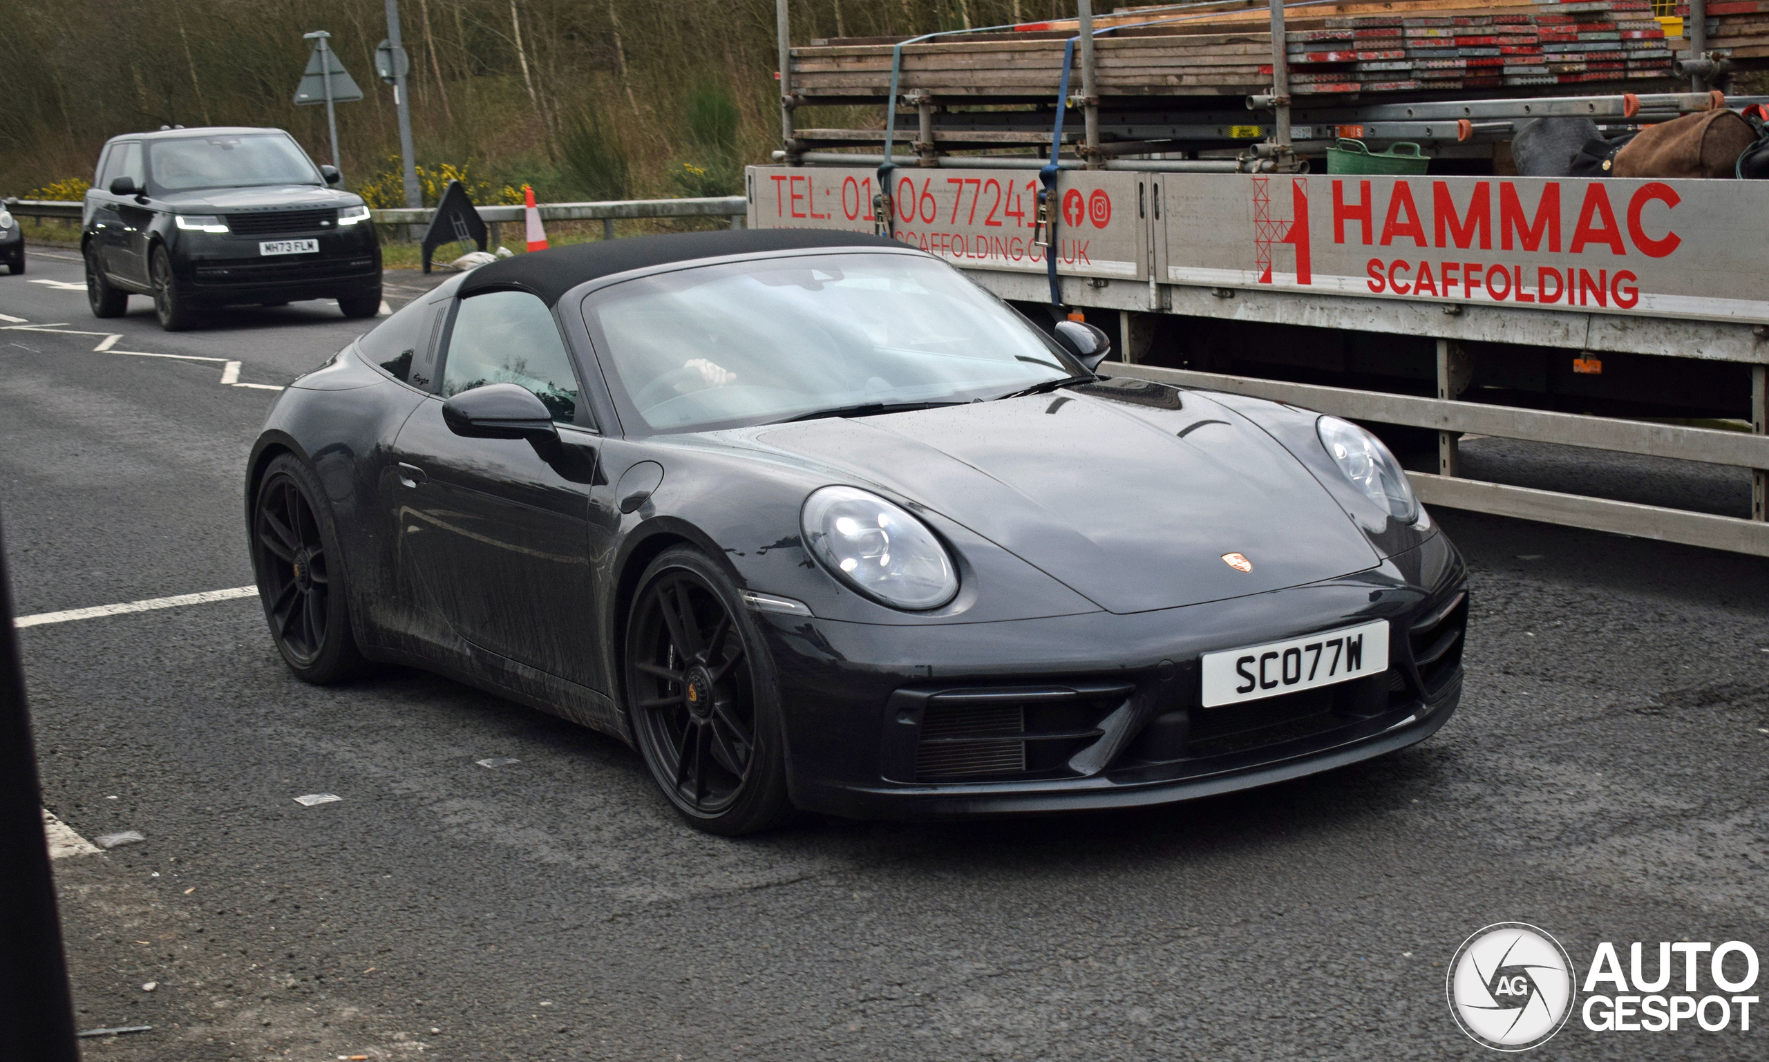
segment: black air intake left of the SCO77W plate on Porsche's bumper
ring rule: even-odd
[[[1093,770],[1090,765],[1070,766],[1070,761],[1102,738],[1102,722],[1134,689],[1116,681],[1079,681],[899,690],[893,719],[918,722],[913,759],[904,766],[913,763],[907,773],[918,782],[1086,773]],[[886,777],[902,779],[904,773],[888,766]]]

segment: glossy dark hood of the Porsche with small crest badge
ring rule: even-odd
[[[1113,612],[1380,563],[1309,471],[1235,411],[1196,391],[1183,405],[1171,389],[1076,391],[805,421],[755,441],[920,501]]]

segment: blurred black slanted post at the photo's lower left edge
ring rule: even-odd
[[[0,1058],[80,1062],[0,542]]]

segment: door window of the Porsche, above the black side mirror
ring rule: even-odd
[[[442,396],[485,384],[534,391],[555,421],[577,418],[577,375],[552,312],[527,292],[462,299],[442,365]]]

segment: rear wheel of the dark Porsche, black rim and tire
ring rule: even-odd
[[[290,453],[258,481],[251,566],[271,641],[295,678],[329,685],[363,671],[338,527],[318,478]]]

